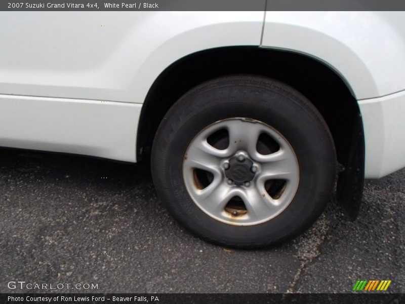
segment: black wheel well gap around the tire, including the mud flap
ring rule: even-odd
[[[137,134],[138,161],[148,160],[158,125],[184,93],[210,79],[244,73],[284,82],[319,110],[331,130],[340,164],[337,198],[354,219],[361,201],[365,166],[359,107],[338,71],[303,53],[256,46],[222,47],[172,63],[154,81],[144,101]]]

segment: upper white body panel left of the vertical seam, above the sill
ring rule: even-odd
[[[0,12],[0,94],[143,103],[191,53],[259,45],[264,12]]]

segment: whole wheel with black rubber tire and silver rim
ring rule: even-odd
[[[331,133],[311,102],[252,75],[215,79],[183,95],[160,123],[151,155],[156,191],[174,217],[201,238],[235,248],[306,230],[330,199],[336,164]]]

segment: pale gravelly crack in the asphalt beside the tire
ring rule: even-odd
[[[286,293],[300,292],[299,289],[295,290],[296,285],[301,279],[304,269],[321,254],[320,248],[326,241],[329,229],[330,219],[323,213],[309,231],[299,237],[296,258],[301,260],[301,264]]]

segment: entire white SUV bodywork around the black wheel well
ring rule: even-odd
[[[0,24],[0,146],[137,162],[159,75],[246,46],[339,75],[361,112],[365,177],[405,167],[402,12],[1,12]]]

